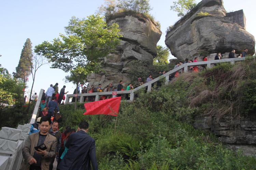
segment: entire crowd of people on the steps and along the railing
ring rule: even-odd
[[[237,55],[237,57],[246,57],[248,49],[244,49],[244,52]],[[229,58],[234,58],[235,50],[229,53]],[[221,53],[217,53],[214,60],[221,59]],[[207,56],[202,58],[202,61],[208,61]],[[174,68],[177,68],[185,63],[198,62],[198,57],[194,60],[185,59],[184,62],[178,62],[175,64]],[[205,66],[202,66],[203,69]],[[189,71],[198,72],[198,66],[190,66]],[[175,72],[171,75],[169,80],[173,77],[177,77],[179,73],[183,70]],[[158,76],[165,74],[166,71],[158,71]],[[146,83],[153,80],[152,75],[148,75]],[[138,78],[139,85],[143,85],[144,81],[142,78]],[[161,86],[161,81],[157,82],[157,87]],[[39,117],[37,122],[33,123],[30,130],[30,135],[27,138],[25,145],[22,150],[23,157],[25,159],[26,169],[29,170],[39,170],[39,169],[53,169],[54,160],[56,158],[58,164],[57,169],[68,170],[68,169],[89,169],[90,162],[94,169],[98,169],[96,152],[95,152],[95,140],[91,138],[87,132],[89,124],[87,122],[81,122],[77,130],[66,127],[66,130],[61,133],[59,130],[59,122],[61,116],[59,114],[59,105],[62,100],[65,100],[66,86],[64,85],[59,92],[58,83],[54,86],[51,84],[46,92],[43,92],[40,107],[39,107]],[[120,80],[116,87],[113,87],[110,83],[106,88],[102,88],[101,84],[97,87],[91,85],[90,88],[82,86],[81,93],[93,93],[93,92],[106,92],[106,91],[123,91],[132,90],[132,83],[128,83],[126,88],[124,88],[123,81]],[[80,88],[74,90],[74,94],[80,93]],[[120,94],[117,95],[121,96]],[[111,98],[112,95],[101,96],[101,100]],[[25,96],[26,98],[26,96]],[[36,101],[38,99],[37,93],[35,93],[31,100]],[[129,100],[129,95],[126,94],[126,99]],[[25,100],[25,99],[24,99]],[[89,96],[85,98],[85,102],[92,102],[95,98]],[[72,99],[74,102],[74,98]]]

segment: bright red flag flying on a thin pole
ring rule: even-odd
[[[117,116],[121,97],[115,97],[95,102],[85,103],[84,115],[111,115]]]

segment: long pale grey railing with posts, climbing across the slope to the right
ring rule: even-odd
[[[205,61],[205,62],[194,62],[194,63],[186,63],[183,64],[173,70],[168,71],[167,73],[155,78],[154,80],[147,82],[145,84],[143,84],[142,86],[139,86],[137,88],[134,88],[133,90],[125,90],[125,91],[115,91],[117,93],[117,95],[121,95],[121,94],[130,94],[130,101],[134,100],[134,92],[138,91],[141,88],[145,88],[147,87],[147,91],[151,91],[152,89],[152,84],[162,80],[163,78],[165,78],[165,84],[169,83],[169,76],[174,74],[177,71],[183,70],[184,72],[188,71],[188,67],[191,66],[201,66],[201,65],[207,65],[207,68],[211,67],[211,64],[216,64],[216,63],[223,63],[223,62],[231,62],[232,64],[236,61],[243,61],[245,60],[246,57],[241,57],[241,58],[224,58],[221,60],[209,60],[209,61]],[[94,92],[94,93],[83,93],[83,94],[77,94],[77,97],[80,97],[80,103],[84,102],[84,98],[85,97],[95,97],[95,101],[98,101],[100,99],[100,96],[112,96],[112,92],[113,91],[108,91],[108,92]],[[71,94],[71,95],[67,95],[66,97],[66,104],[70,103],[69,100],[71,97],[75,97],[75,94]],[[116,97],[116,96],[113,96]]]

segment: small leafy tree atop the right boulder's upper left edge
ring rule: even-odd
[[[184,17],[196,6],[195,0],[178,0],[173,2],[171,10],[177,12],[178,17]]]

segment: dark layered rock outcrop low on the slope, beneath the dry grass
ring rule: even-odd
[[[193,126],[197,129],[213,132],[219,137],[219,141],[232,149],[242,149],[245,155],[256,153],[255,114],[240,116],[239,119],[223,117],[219,121],[216,121],[214,117],[209,120],[208,116],[196,115]]]

